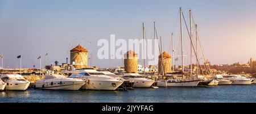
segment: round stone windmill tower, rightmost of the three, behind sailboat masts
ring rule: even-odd
[[[163,54],[163,64],[162,64],[162,54]],[[172,57],[167,52],[163,52],[162,54],[160,54],[158,56],[158,72],[159,72],[159,74],[171,73],[171,71],[172,71],[171,59],[172,59]],[[162,70],[162,67],[163,67],[164,72]]]

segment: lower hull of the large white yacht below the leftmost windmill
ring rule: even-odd
[[[82,90],[115,90],[122,85],[122,81],[88,81]]]

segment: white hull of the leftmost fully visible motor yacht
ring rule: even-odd
[[[30,82],[23,82],[23,83],[7,82],[6,86],[5,86],[5,90],[7,90],[7,91],[25,91],[25,90],[27,90],[28,86],[30,86]]]

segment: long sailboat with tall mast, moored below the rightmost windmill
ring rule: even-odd
[[[182,28],[182,18],[181,18],[182,14],[183,13],[182,13],[182,10],[181,10],[181,7],[180,7],[180,37],[181,37],[181,57],[182,57],[182,59],[181,59],[182,60],[181,74],[182,74],[182,79],[168,79],[168,77],[170,78],[170,75],[162,74],[162,77],[167,77],[167,78],[162,79],[162,81],[158,82],[159,87],[195,87],[200,82],[200,80],[187,79],[187,78],[184,77],[183,31],[182,31],[183,28]],[[161,47],[162,47],[162,39],[160,39],[160,41],[161,41]],[[192,43],[192,39],[191,39],[191,43]],[[163,57],[162,57],[162,61],[163,61]],[[163,67],[163,65],[162,65],[162,67]]]

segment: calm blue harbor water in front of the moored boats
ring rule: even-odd
[[[0,92],[0,102],[256,102],[256,85],[134,88],[129,91],[28,89]]]

